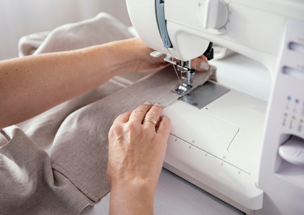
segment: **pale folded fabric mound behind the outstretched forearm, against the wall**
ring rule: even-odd
[[[31,53],[76,50],[131,37],[133,35],[126,25],[109,14],[100,13],[84,21],[59,26],[51,32],[21,37],[18,52],[19,56],[24,56]]]

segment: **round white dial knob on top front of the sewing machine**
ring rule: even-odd
[[[229,8],[224,0],[205,0],[202,6],[205,29],[221,29],[227,24]]]

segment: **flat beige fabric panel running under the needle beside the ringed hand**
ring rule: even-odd
[[[213,72],[214,67],[198,73],[193,88],[208,80]],[[172,91],[176,85],[174,69],[170,66],[70,114],[54,138],[53,168],[92,200],[103,197],[105,192],[101,187],[109,189],[106,181],[108,131],[114,119],[147,100],[167,106],[180,97]]]

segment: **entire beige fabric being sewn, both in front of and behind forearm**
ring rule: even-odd
[[[126,27],[113,17],[100,14],[95,18],[59,27],[48,34],[34,53],[131,37]],[[94,31],[98,35],[92,36]],[[89,36],[84,35],[87,33]],[[67,36],[70,39],[63,39]],[[106,39],[101,41],[99,36]],[[75,42],[78,38],[79,42],[86,42],[79,45]],[[193,88],[208,80],[215,70],[211,66],[209,71],[197,73]],[[106,167],[108,131],[113,120],[145,101],[168,105],[179,97],[171,90],[177,83],[172,66],[129,86],[110,80],[91,92],[1,130],[1,214],[74,215],[94,205],[110,190]]]

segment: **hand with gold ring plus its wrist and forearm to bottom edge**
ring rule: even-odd
[[[109,131],[107,179],[110,214],[152,214],[153,198],[167,149],[171,121],[149,102],[118,116]],[[157,124],[157,130],[150,117]]]

